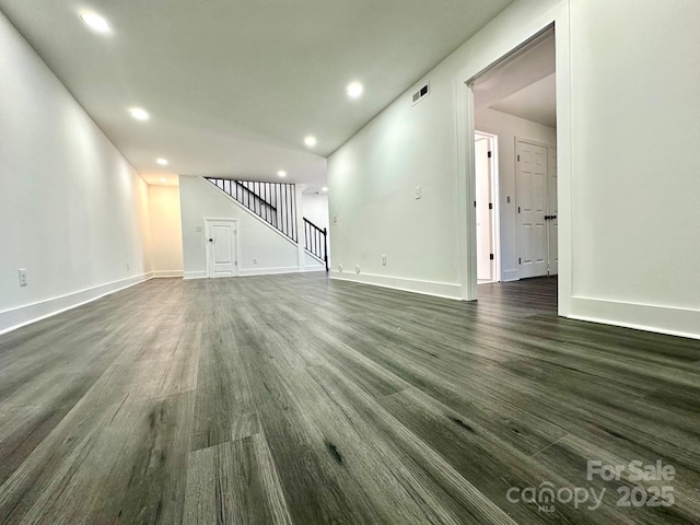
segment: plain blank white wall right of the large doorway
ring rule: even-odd
[[[572,313],[700,335],[700,2],[572,0]]]

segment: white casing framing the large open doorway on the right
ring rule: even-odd
[[[572,279],[572,129],[571,129],[571,47],[569,2],[562,1],[538,21],[539,27],[523,27],[522,33],[512,34],[510,46],[492,47],[475,57],[468,68],[457,74],[455,81],[457,109],[457,189],[459,232],[459,280],[462,299],[477,299],[476,268],[476,172],[474,165],[474,81],[485,71],[501,62],[514,49],[521,47],[542,28],[555,26],[555,48],[557,61],[557,166],[558,166],[558,219],[559,219],[559,315],[571,314],[573,295]]]

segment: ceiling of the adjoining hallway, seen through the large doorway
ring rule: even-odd
[[[490,107],[534,122],[557,127],[553,32],[474,83],[477,110]]]

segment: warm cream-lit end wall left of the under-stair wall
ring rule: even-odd
[[[183,277],[183,230],[177,186],[149,186],[154,277]]]

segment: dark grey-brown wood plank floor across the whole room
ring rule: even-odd
[[[0,336],[0,523],[700,523],[700,341],[479,290],[152,280]]]

